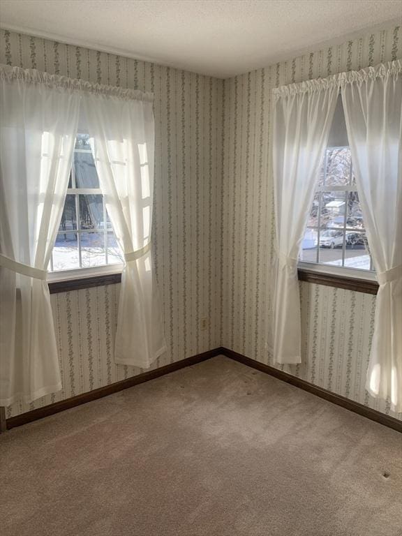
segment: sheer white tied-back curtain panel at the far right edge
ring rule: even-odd
[[[380,285],[366,389],[402,412],[402,61],[343,73],[341,94]]]

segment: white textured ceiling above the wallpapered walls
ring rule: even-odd
[[[3,28],[221,78],[401,19],[401,0],[0,0]]]

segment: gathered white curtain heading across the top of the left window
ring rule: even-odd
[[[87,80],[78,80],[67,76],[51,75],[36,69],[23,69],[17,66],[0,64],[0,80],[12,82],[21,80],[27,84],[43,84],[47,87],[64,87],[73,91],[82,91],[104,96],[113,96],[125,101],[146,101],[154,102],[154,94],[144,93],[139,89],[129,89],[124,87],[107,86],[105,84],[94,84]]]

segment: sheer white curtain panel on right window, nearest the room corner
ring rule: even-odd
[[[301,362],[297,262],[339,91],[338,76],[274,89],[274,359]]]

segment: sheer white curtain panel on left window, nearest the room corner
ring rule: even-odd
[[[135,93],[135,92],[132,92]],[[166,350],[151,258],[152,96],[83,96],[107,211],[124,252],[114,360],[148,368]]]

